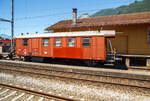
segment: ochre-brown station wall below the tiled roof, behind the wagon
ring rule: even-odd
[[[148,29],[150,29],[150,24],[60,29],[54,30],[54,32],[115,30],[116,37],[108,38],[106,41],[108,51],[110,51],[108,40],[111,40],[112,46],[117,50],[118,54],[150,55],[150,44],[148,44]]]

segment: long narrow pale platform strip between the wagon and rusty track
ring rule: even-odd
[[[0,60],[0,64],[17,64],[48,68],[50,70],[58,70],[65,72],[85,73],[100,76],[113,76],[123,77],[140,80],[150,80],[150,70],[118,70],[118,69],[104,69],[94,67],[81,67],[81,66],[67,66],[67,65],[56,65],[56,64],[45,64],[45,63],[34,63],[34,62],[23,62],[23,61],[11,61],[11,60]]]

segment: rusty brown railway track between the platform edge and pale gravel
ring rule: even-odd
[[[65,79],[82,80],[82,81],[90,81],[90,82],[97,82],[97,83],[150,89],[149,86],[150,80],[145,80],[145,79],[143,80],[140,78],[127,78],[121,76],[101,75],[101,74],[93,75],[93,74],[79,73],[73,71],[51,70],[50,68],[42,68],[42,67],[35,67],[35,66],[34,67],[25,66],[25,65],[18,66],[16,64],[14,65],[1,64],[1,65],[4,66],[4,67],[0,67],[0,69],[3,71],[14,71],[20,73],[34,74],[34,75],[51,76],[51,77],[58,77],[58,78],[65,78]]]

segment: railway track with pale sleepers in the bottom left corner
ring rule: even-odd
[[[2,90],[3,89],[3,90]],[[1,91],[2,90],[2,91]],[[29,90],[26,88],[20,88],[12,85],[0,84],[0,101],[8,100],[11,97],[11,101],[77,101],[75,99],[52,95],[48,93]],[[11,92],[8,92],[11,91]],[[17,94],[18,93],[18,94]],[[7,94],[6,96],[3,94]],[[16,95],[15,95],[16,94]],[[3,95],[3,97],[1,97]],[[15,96],[14,96],[15,95]],[[28,97],[24,98],[26,95]],[[36,97],[36,98],[35,98]]]

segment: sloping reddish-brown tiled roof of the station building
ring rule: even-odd
[[[78,19],[77,24],[72,24],[72,20],[62,20],[45,30],[133,24],[150,24],[150,12],[84,18]]]

